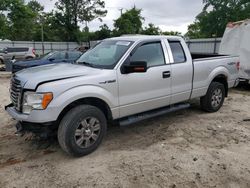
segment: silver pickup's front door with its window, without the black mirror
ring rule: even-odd
[[[147,62],[144,73],[118,72],[120,117],[126,117],[170,104],[171,66],[163,43],[140,43],[127,62]]]

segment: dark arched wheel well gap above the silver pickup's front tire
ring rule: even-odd
[[[58,116],[57,122],[59,123],[61,121],[61,119],[65,116],[65,114],[68,111],[70,111],[72,108],[74,108],[78,105],[82,105],[82,104],[92,105],[92,106],[99,108],[104,113],[108,122],[111,122],[113,120],[111,110],[105,101],[103,101],[102,99],[99,99],[99,98],[89,97],[89,98],[83,98],[83,99],[76,100],[76,101],[72,102],[71,104],[69,104],[68,106],[66,106],[63,109],[63,111],[60,113],[60,115]]]

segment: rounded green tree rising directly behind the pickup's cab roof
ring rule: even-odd
[[[141,9],[133,7],[114,21],[115,35],[139,34],[142,31]]]

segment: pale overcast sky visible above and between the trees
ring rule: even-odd
[[[37,0],[44,7],[45,11],[54,8],[56,0]],[[179,31],[182,34],[187,32],[187,26],[194,22],[195,17],[202,11],[202,0],[105,0],[108,14],[103,22],[94,20],[89,24],[91,31],[99,29],[104,23],[113,28],[113,20],[117,19],[123,12],[134,5],[142,9],[143,23],[153,23],[163,31]]]

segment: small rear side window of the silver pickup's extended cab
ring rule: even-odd
[[[186,62],[186,55],[182,48],[180,41],[169,41],[170,48],[172,50],[174,63]]]

